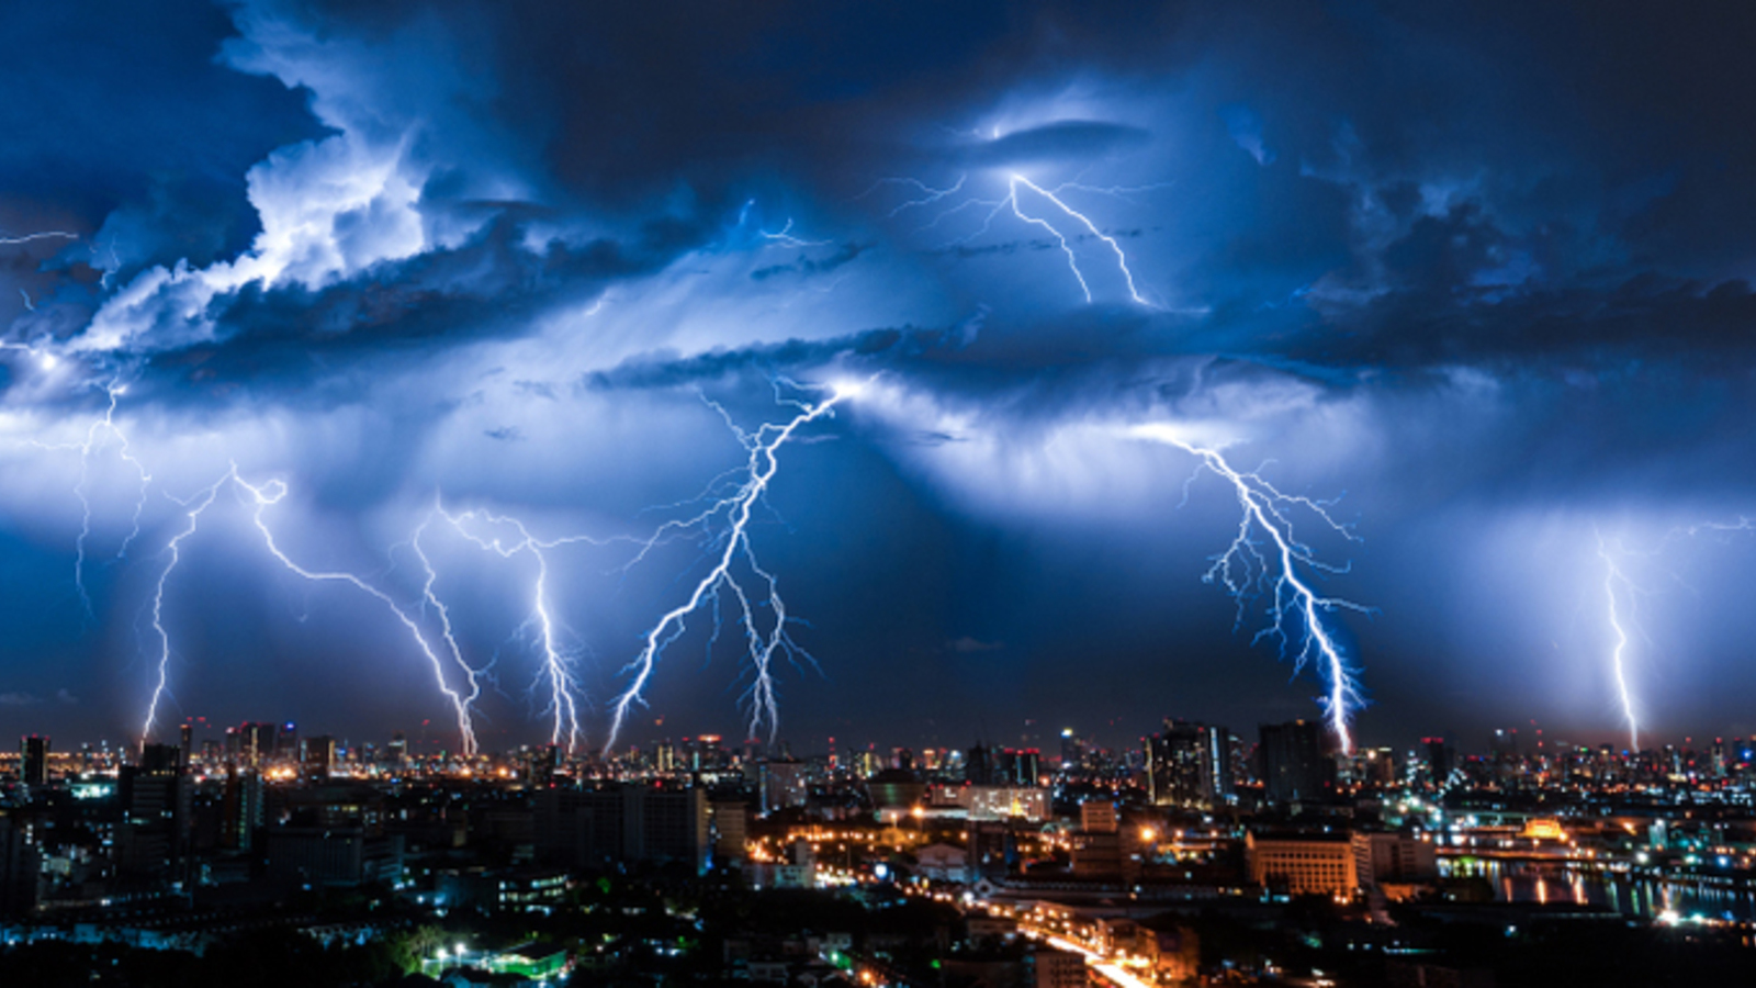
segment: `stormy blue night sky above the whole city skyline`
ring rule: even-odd
[[[479,670],[485,747],[546,740],[522,522],[602,744],[736,429],[839,394],[748,526],[795,749],[1321,717],[1273,596],[1203,582],[1233,487],[1154,436],[1312,499],[1363,744],[1626,740],[1610,594],[1642,744],[1747,737],[1752,40],[1728,4],[7,5],[0,733],[137,738],[156,615],[163,737],[455,740],[400,612]],[[745,733],[720,614],[623,742]]]

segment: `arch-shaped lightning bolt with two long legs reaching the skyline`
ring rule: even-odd
[[[428,665],[432,666],[434,679],[439,684],[439,691],[444,694],[444,698],[451,703],[453,710],[457,712],[457,724],[458,724],[458,735],[462,737],[464,754],[465,756],[476,754],[476,730],[471,719],[471,701],[478,696],[476,677],[474,672],[464,663],[462,656],[457,652],[457,642],[451,640],[450,635],[450,621],[446,619],[444,622],[446,628],[444,636],[451,647],[453,661],[464,668],[464,675],[471,689],[469,696],[458,693],[450,682],[446,682],[446,673],[444,673],[446,663],[439,656],[439,650],[434,649],[434,645],[427,640],[427,633],[421,628],[421,622],[413,614],[409,614],[409,610],[399,605],[395,598],[392,598],[388,592],[374,587],[372,584],[362,580],[353,573],[311,570],[295,563],[290,556],[286,556],[286,552],[281,548],[279,541],[274,536],[274,529],[269,527],[269,522],[263,517],[263,513],[269,508],[279,505],[286,498],[288,494],[286,483],[281,480],[270,480],[260,485],[251,483],[239,475],[235,464],[212,485],[202,489],[186,501],[177,501],[184,508],[184,526],[176,536],[170,538],[167,545],[167,563],[165,568],[160,571],[158,584],[155,585],[153,591],[153,629],[158,635],[158,645],[160,645],[158,677],[153,687],[151,700],[148,703],[146,723],[140,728],[142,740],[153,737],[153,724],[158,719],[158,708],[163,701],[167,682],[170,677],[169,670],[170,670],[172,645],[170,645],[170,631],[165,628],[165,617],[163,617],[165,585],[170,580],[170,575],[176,571],[177,563],[183,559],[181,552],[183,540],[195,534],[197,527],[200,526],[200,517],[207,512],[209,506],[212,506],[212,503],[220,496],[220,490],[225,489],[227,485],[232,485],[237,492],[248,498],[251,524],[262,534],[263,547],[269,550],[270,556],[274,556],[276,561],[281,563],[281,566],[311,582],[348,584],[365,592],[367,596],[378,599],[390,610],[390,614],[404,626],[404,629],[409,631],[409,636],[414,640],[414,645],[421,652],[421,656],[427,657]],[[425,561],[425,554],[420,556]],[[432,582],[434,582],[434,571],[428,566],[427,585],[423,587],[423,601],[432,599]]]

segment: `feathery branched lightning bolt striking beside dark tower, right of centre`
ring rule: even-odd
[[[1354,737],[1349,721],[1364,705],[1364,693],[1357,670],[1349,661],[1342,643],[1336,642],[1329,621],[1340,610],[1371,614],[1371,608],[1321,596],[1299,575],[1299,570],[1345,573],[1347,568],[1331,566],[1315,557],[1310,545],[1294,533],[1292,512],[1303,510],[1313,515],[1324,527],[1349,541],[1357,541],[1359,536],[1329,515],[1333,503],[1287,494],[1263,478],[1261,473],[1243,473],[1233,468],[1219,450],[1180,438],[1169,425],[1140,425],[1133,432],[1196,457],[1201,461],[1196,475],[1206,469],[1231,483],[1241,510],[1238,531],[1231,545],[1213,557],[1213,564],[1201,578],[1206,584],[1224,585],[1226,592],[1238,601],[1240,626],[1250,601],[1268,598],[1268,626],[1256,633],[1252,643],[1263,638],[1278,640],[1282,656],[1292,656],[1294,673],[1306,663],[1317,666],[1319,680],[1324,684],[1321,703],[1329,730],[1342,744],[1342,751],[1352,752]],[[1187,485],[1184,496],[1187,498]],[[1257,533],[1266,536],[1266,545],[1259,541]]]

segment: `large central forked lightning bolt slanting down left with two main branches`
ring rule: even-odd
[[[666,612],[657,624],[646,633],[644,645],[639,656],[634,657],[623,672],[632,673],[632,679],[620,696],[615,700],[613,717],[609,724],[609,737],[604,742],[604,751],[615,747],[616,738],[622,735],[622,726],[627,721],[629,710],[636,705],[644,705],[643,691],[646,680],[653,673],[653,666],[664,654],[666,647],[676,642],[687,629],[688,615],[701,610],[704,605],[711,605],[715,614],[715,635],[718,635],[718,612],[722,603],[722,594],[730,594],[732,603],[738,608],[739,624],[745,629],[745,652],[750,657],[752,680],[750,689],[745,691],[745,701],[750,708],[750,737],[757,737],[762,730],[762,723],[769,724],[769,737],[780,730],[780,708],[774,696],[774,680],[769,675],[771,665],[776,654],[797,657],[802,656],[810,659],[810,652],[799,647],[787,635],[787,605],[780,596],[780,584],[773,573],[762,568],[757,561],[755,550],[750,545],[750,515],[755,510],[757,501],[767,492],[769,483],[774,480],[774,473],[780,469],[780,448],[790,440],[801,427],[824,418],[832,413],[834,406],[843,399],[853,397],[860,385],[839,385],[831,396],[817,404],[808,404],[801,401],[788,401],[799,410],[790,420],[781,424],[762,424],[753,432],[745,431],[736,422],[723,406],[708,401],[708,404],[725,418],[725,424],[738,436],[739,445],[748,452],[748,461],[743,468],[743,482],[738,483],[727,496],[715,499],[701,513],[678,522],[666,522],[653,533],[650,540],[641,547],[639,554],[629,563],[634,566],[646,554],[660,543],[660,540],[674,536],[681,531],[711,533],[716,526],[723,524],[723,531],[713,536],[711,545],[718,548],[718,557],[711,570],[701,577],[695,589],[688,594],[688,599],[678,607]],[[755,587],[748,587],[734,573],[734,564],[743,561],[755,578]],[[757,622],[759,603],[766,603],[773,612],[773,621],[767,629],[762,629]]]

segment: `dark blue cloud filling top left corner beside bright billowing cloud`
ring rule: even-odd
[[[239,250],[244,172],[321,128],[304,93],[218,65],[234,32],[200,0],[14,4],[0,14],[0,223],[104,237],[130,269]]]

